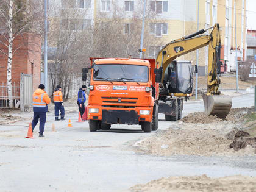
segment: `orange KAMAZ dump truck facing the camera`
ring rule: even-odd
[[[90,58],[82,79],[90,74],[90,131],[112,124],[140,124],[144,132],[158,129],[158,83],[155,59]],[[156,72],[157,73],[157,72]],[[155,79],[157,78],[157,82]]]

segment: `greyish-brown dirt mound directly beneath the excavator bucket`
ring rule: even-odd
[[[236,122],[239,121],[244,115],[246,115],[249,108],[232,108],[227,115],[226,119],[218,118],[217,116],[207,116],[204,112],[190,113],[188,116],[182,118],[181,121],[186,123],[215,123],[223,121]]]

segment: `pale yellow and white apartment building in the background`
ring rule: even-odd
[[[199,3],[199,11],[197,6]],[[131,23],[133,16],[141,18],[143,13],[143,0],[49,0],[51,7],[59,7],[50,11],[61,16],[63,27],[71,27],[73,30],[84,30],[93,26],[99,15],[111,16],[119,11],[122,15],[124,34],[130,34],[134,28]],[[156,57],[158,51],[170,41],[192,34],[197,31],[197,13],[199,12],[199,30],[219,23],[221,29],[221,59],[225,63],[222,72],[235,71],[235,9],[236,5],[236,37],[238,60],[246,60],[246,34],[247,34],[247,0],[147,0],[145,33],[155,38],[147,47],[146,56]],[[80,18],[72,16],[65,18],[66,9],[74,9],[79,12]],[[53,16],[53,15],[52,15]],[[135,24],[136,25],[136,24]],[[51,25],[50,25],[51,26]],[[192,60],[196,62],[195,52],[183,55],[178,60]],[[204,75],[208,65],[208,48],[199,49],[199,71]]]

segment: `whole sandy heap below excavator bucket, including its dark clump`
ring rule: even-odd
[[[249,136],[243,116],[247,108],[231,110],[227,120],[191,113],[185,121],[133,143],[135,151],[151,155],[256,155],[256,137]],[[237,128],[239,127],[239,129]],[[248,130],[249,131],[249,130]],[[255,136],[255,135],[253,135]]]

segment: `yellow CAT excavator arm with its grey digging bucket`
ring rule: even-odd
[[[204,34],[212,29],[210,34]],[[204,35],[200,35],[204,34]],[[197,36],[198,35],[198,36]],[[208,29],[199,30],[194,34],[182,37],[166,44],[157,56],[156,63],[162,68],[161,82],[163,83],[165,70],[177,57],[185,55],[191,51],[208,45],[208,76],[207,93],[203,94],[205,112],[207,115],[217,115],[219,118],[226,118],[230,111],[232,101],[227,96],[220,96],[218,90],[221,80],[220,54],[221,54],[221,36],[219,33],[219,24]],[[169,95],[173,93],[168,93]],[[184,94],[185,95],[185,94]]]

